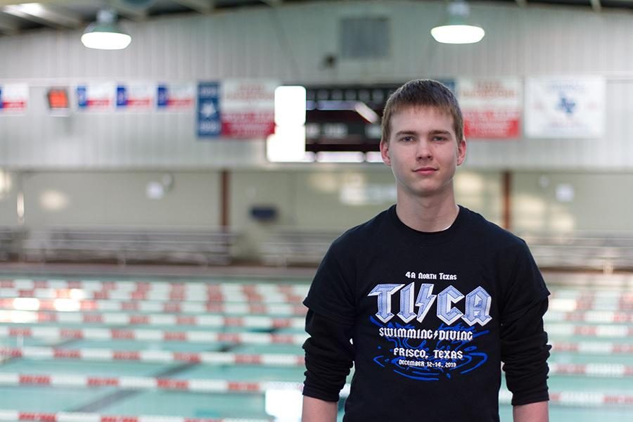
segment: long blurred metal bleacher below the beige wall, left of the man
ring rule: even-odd
[[[115,261],[230,264],[236,239],[224,229],[120,229],[63,227],[31,231],[25,261]]]

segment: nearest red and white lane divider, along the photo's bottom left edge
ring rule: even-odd
[[[122,416],[79,412],[36,413],[32,411],[0,409],[0,421],[36,422],[271,422],[272,419],[238,418],[182,418],[180,416]]]

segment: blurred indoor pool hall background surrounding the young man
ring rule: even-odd
[[[0,0],[0,421],[297,421],[301,300],[395,202],[380,116],[421,77],[466,118],[458,202],[553,293],[552,420],[633,421],[632,8]]]

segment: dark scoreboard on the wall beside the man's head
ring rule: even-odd
[[[378,151],[383,108],[397,87],[306,87],[306,151]]]

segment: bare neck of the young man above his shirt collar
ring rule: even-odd
[[[398,198],[396,214],[401,222],[417,231],[442,231],[448,229],[459,214],[454,198]]]

